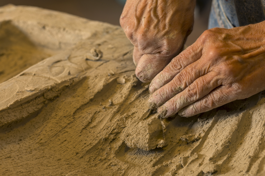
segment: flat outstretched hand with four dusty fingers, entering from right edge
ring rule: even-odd
[[[190,117],[265,90],[265,22],[205,31],[152,80],[147,104]]]

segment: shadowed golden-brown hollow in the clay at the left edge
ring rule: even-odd
[[[0,83],[50,56],[11,21],[0,23]]]

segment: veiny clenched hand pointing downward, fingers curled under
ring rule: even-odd
[[[136,76],[151,81],[181,51],[194,22],[195,0],[127,0],[120,24],[134,45]]]

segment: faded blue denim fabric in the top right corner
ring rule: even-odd
[[[230,29],[265,20],[265,0],[213,0],[208,29]]]

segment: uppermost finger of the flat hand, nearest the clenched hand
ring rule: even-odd
[[[160,87],[170,82],[175,75],[177,75],[182,69],[202,56],[203,46],[196,41],[193,45],[182,51],[178,56],[173,58],[171,62],[155,76],[149,86],[150,94],[154,93]]]

